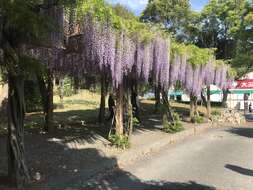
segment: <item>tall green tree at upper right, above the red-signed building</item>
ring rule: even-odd
[[[211,0],[201,12],[197,44],[216,48],[218,59],[231,59],[235,53],[235,34],[240,28],[246,0]]]

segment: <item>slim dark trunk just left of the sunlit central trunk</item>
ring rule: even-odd
[[[105,74],[101,74],[101,98],[100,98],[100,109],[99,109],[99,116],[98,120],[100,123],[105,122],[105,98],[106,98],[106,80]]]

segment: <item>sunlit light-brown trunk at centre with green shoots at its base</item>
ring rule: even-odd
[[[116,135],[122,136],[123,131],[123,85],[119,84],[116,90],[116,108],[115,108],[115,130]]]

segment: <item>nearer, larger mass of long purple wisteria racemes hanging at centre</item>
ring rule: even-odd
[[[156,35],[155,38],[141,40],[138,33],[129,35],[123,29],[115,29],[108,20],[97,21],[87,14],[83,18],[82,40],[78,41],[77,50],[67,51],[64,63],[73,63],[71,54],[78,52],[82,59],[78,70],[75,72],[99,74],[110,71],[112,84],[117,87],[122,83],[123,77],[133,71],[139,80],[148,81],[154,77],[156,83],[169,86],[169,44],[166,40]],[[137,37],[136,37],[137,35]],[[81,61],[80,61],[81,60]],[[68,63],[69,62],[69,63]],[[71,68],[70,68],[71,69]],[[81,71],[82,70],[82,71]]]

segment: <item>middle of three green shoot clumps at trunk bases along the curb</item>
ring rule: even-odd
[[[166,133],[177,133],[184,130],[183,124],[180,120],[180,117],[177,113],[173,113],[175,122],[171,123],[168,121],[167,116],[163,115],[163,131]]]

